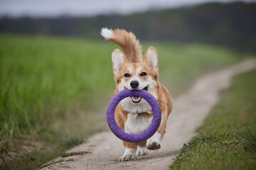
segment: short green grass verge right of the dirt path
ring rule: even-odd
[[[255,169],[256,70],[232,84],[171,169]]]

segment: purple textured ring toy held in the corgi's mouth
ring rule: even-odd
[[[149,103],[153,111],[153,120],[151,125],[146,131],[139,134],[128,134],[122,131],[118,127],[114,119],[114,111],[118,103],[122,101],[122,99],[127,98],[129,96],[140,96],[144,98]],[[107,106],[107,124],[109,125],[110,130],[114,133],[114,135],[119,137],[119,139],[127,142],[142,142],[144,140],[149,139],[149,137],[153,136],[156,130],[158,130],[160,123],[161,123],[161,109],[160,109],[159,103],[158,101],[156,101],[156,98],[154,98],[154,96],[152,96],[145,90],[129,91],[125,89],[123,91],[120,91],[118,94],[116,94],[112,98],[109,105]]]

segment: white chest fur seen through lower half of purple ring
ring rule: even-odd
[[[145,116],[145,114],[146,113],[128,113],[127,121],[124,123],[124,132],[138,134],[149,128],[153,117]]]

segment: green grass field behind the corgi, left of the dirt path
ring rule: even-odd
[[[1,157],[3,153],[26,153],[29,149],[24,148],[38,148],[39,142],[42,147],[29,164],[40,167],[107,128],[105,109],[114,90],[111,53],[117,45],[105,40],[21,35],[0,35],[0,44]],[[239,60],[220,47],[167,42],[142,45],[144,52],[149,46],[158,50],[159,79],[172,96],[186,91],[201,74]],[[26,162],[26,158],[19,160]]]

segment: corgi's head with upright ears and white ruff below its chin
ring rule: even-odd
[[[146,51],[143,62],[136,63],[128,62],[127,57],[116,49],[112,52],[112,64],[117,92],[124,89],[144,89],[155,98],[158,97],[158,55],[154,47],[149,47]],[[129,113],[143,113],[151,110],[149,103],[139,96],[124,98],[120,103]]]

